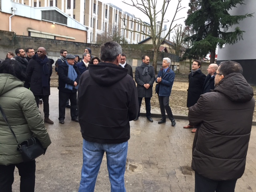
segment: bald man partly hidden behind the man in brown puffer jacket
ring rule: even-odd
[[[214,72],[216,72],[218,69],[218,65],[216,63],[212,63],[208,66],[207,72],[208,75],[206,76],[206,79],[204,80],[204,85],[202,88],[202,94],[210,92],[210,90],[214,89]]]

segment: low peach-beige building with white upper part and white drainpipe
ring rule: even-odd
[[[32,7],[11,0],[0,4],[0,30],[73,42],[87,40],[87,28],[56,7]]]

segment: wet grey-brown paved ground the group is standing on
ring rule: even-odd
[[[46,124],[52,144],[46,154],[36,160],[36,192],[77,192],[82,167],[82,136],[79,124],[71,121],[66,109],[65,124],[58,122],[58,90],[51,88],[50,118]],[[43,113],[42,105],[40,111]],[[191,170],[194,134],[183,126],[187,120],[176,119],[157,124],[140,117],[130,122],[125,182],[127,192],[193,192],[194,172]],[[253,127],[247,155],[246,170],[237,182],[236,192],[256,192],[256,128]],[[15,171],[13,192],[19,191]],[[106,158],[96,182],[95,192],[110,192]]]

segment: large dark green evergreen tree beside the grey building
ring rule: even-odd
[[[244,4],[244,0],[190,0],[185,23],[193,32],[187,39],[193,42],[193,52],[200,53],[199,55],[210,52],[210,63],[214,63],[217,46],[234,44],[242,39],[245,31],[239,27],[234,31],[228,29],[245,18],[252,17],[252,14],[230,15],[228,11],[237,4]]]

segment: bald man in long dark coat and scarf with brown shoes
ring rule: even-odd
[[[53,63],[53,60],[47,58],[46,49],[39,47],[37,53],[28,62],[26,70],[30,81],[30,91],[35,96],[37,107],[40,97],[44,102],[44,122],[48,124],[53,124],[53,121],[49,119],[50,76]]]

